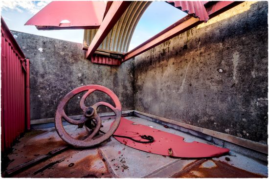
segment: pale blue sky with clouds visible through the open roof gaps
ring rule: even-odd
[[[4,0],[1,16],[9,29],[55,39],[83,42],[83,30],[37,30],[35,26],[24,26],[35,13],[50,1]],[[129,50],[156,35],[186,14],[164,1],[153,1],[138,22],[130,43]]]

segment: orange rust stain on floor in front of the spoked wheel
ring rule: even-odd
[[[52,159],[39,163],[16,178],[111,178],[99,153],[84,157],[78,149],[67,150]]]

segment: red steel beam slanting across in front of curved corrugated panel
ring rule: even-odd
[[[111,7],[109,8],[104,20],[102,21],[97,33],[95,34],[93,40],[90,43],[90,46],[87,51],[87,59],[93,55],[95,50],[107,37],[111,29],[120,19],[125,10],[129,7],[132,1],[113,1]]]

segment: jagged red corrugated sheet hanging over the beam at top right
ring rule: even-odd
[[[204,2],[206,1],[167,1],[174,3],[175,7],[179,7],[182,11],[186,11],[188,14],[193,14],[194,17],[198,17],[199,20],[206,22],[209,20],[209,16],[205,10]]]

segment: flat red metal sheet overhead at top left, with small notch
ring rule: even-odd
[[[103,20],[106,6],[104,1],[52,1],[25,25],[42,30],[95,29]]]

